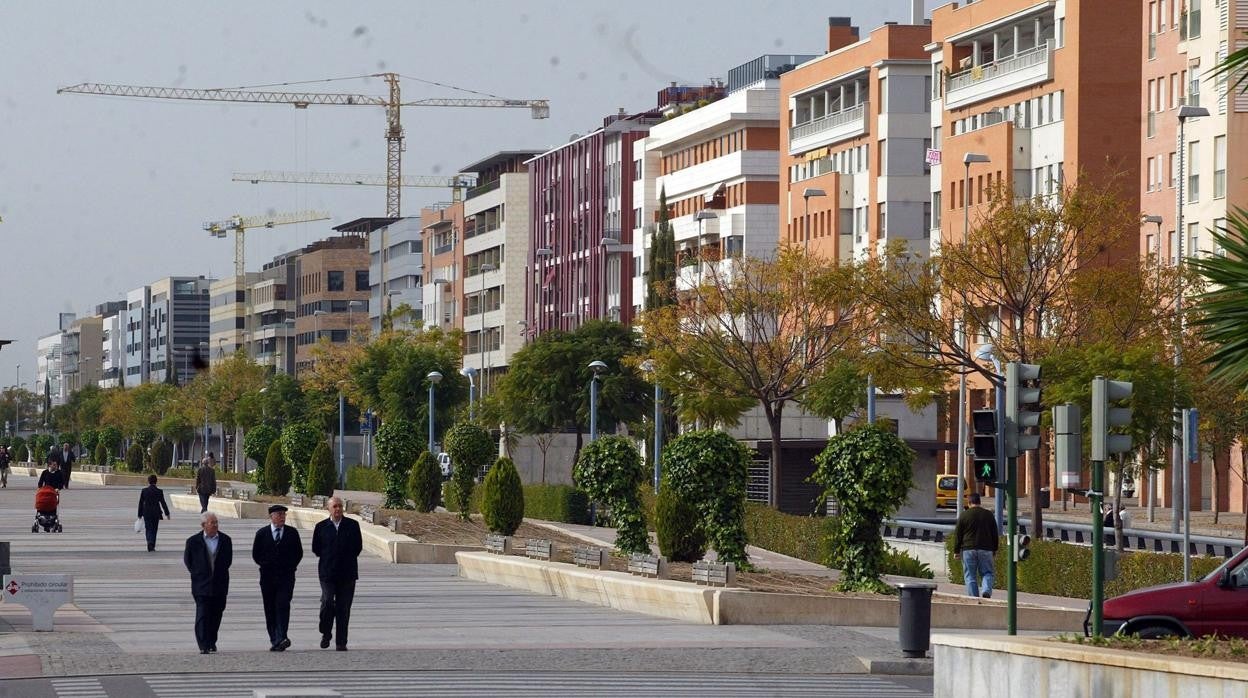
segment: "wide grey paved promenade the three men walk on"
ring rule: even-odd
[[[25,608],[0,604],[0,697],[250,696],[253,686],[290,681],[329,682],[346,696],[406,696],[416,686],[427,694],[607,696],[634,679],[629,693],[643,696],[670,693],[663,687],[681,681],[728,696],[931,692],[930,677],[861,673],[856,657],[897,657],[895,631],[693,626],[472,582],[453,566],[367,554],[351,651],[322,651],[316,558],[307,549],[293,647],[271,653],[250,556],[260,524],[236,519],[221,522],[235,542],[221,652],[202,656],[181,561],[198,516],[175,511],[149,553],[132,529],[137,498],[137,487],[75,484],[62,494],[65,533],[32,534],[34,481],[12,477],[0,489],[0,539],[11,542],[14,571],[71,573],[76,596],[51,633],[31,632]],[[203,672],[210,682],[195,678]]]

